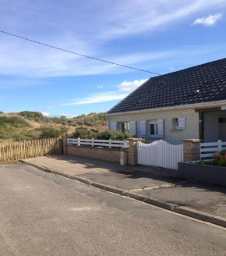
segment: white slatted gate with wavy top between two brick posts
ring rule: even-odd
[[[138,142],[138,164],[178,169],[178,162],[183,162],[183,145],[171,145],[163,140],[150,144]]]

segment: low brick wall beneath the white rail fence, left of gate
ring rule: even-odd
[[[112,148],[98,148],[98,147],[76,146],[76,145],[68,145],[66,148],[66,154],[68,155],[79,155],[85,158],[94,158],[94,159],[100,159],[104,161],[118,162],[118,163],[120,163],[121,151],[122,150],[112,149]]]

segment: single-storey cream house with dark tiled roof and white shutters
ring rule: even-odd
[[[150,141],[226,141],[226,59],[151,77],[107,118],[110,130],[129,130]]]

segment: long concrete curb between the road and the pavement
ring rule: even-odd
[[[88,180],[88,179],[85,179],[85,178],[82,178],[82,177],[70,176],[70,175],[62,173],[62,172],[56,172],[52,169],[48,169],[48,168],[42,167],[40,165],[35,165],[33,163],[26,162],[25,160],[19,160],[19,161],[23,162],[23,164],[31,165],[31,166],[33,166],[37,169],[40,169],[41,171],[44,171],[44,172],[51,172],[51,173],[57,174],[59,176],[64,176],[66,178],[76,180],[76,181],[79,181],[81,183],[85,183],[85,184],[90,185],[92,187],[97,187],[101,190],[107,190],[107,191],[115,193],[115,194],[120,194],[120,195],[125,196],[125,197],[130,197],[132,199],[136,199],[138,201],[143,201],[147,204],[155,205],[159,208],[164,208],[164,209],[166,209],[168,211],[171,211],[171,212],[176,212],[176,213],[179,213],[181,215],[186,215],[186,216],[192,217],[194,219],[200,219],[204,222],[210,222],[210,223],[215,224],[217,226],[223,226],[223,227],[226,228],[226,218],[224,218],[224,217],[210,215],[207,212],[201,212],[201,211],[198,211],[198,210],[195,210],[195,209],[192,209],[192,208],[188,208],[188,207],[185,207],[185,206],[179,206],[178,204],[165,203],[165,202],[157,200],[156,198],[143,196],[141,194],[136,194],[136,193],[130,192],[128,190],[122,190],[122,189],[119,189],[117,187],[111,187],[111,186],[108,186],[108,185],[105,185],[105,184],[102,184],[102,183],[97,183],[97,182],[94,182],[92,180]]]

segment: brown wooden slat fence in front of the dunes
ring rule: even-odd
[[[62,154],[62,139],[23,140],[0,143],[0,162]]]

